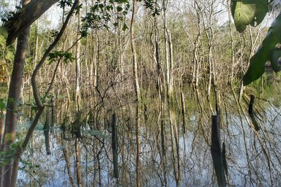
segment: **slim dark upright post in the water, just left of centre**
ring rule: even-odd
[[[112,157],[113,157],[113,176],[118,179],[118,137],[117,137],[117,114],[112,115]]]

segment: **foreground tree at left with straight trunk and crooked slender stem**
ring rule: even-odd
[[[27,5],[29,1],[24,0],[23,6]],[[18,176],[18,167],[20,158],[22,155],[22,152],[25,151],[25,148],[27,148],[27,145],[32,137],[34,128],[36,127],[39,118],[41,116],[41,113],[44,111],[44,103],[42,103],[39,95],[39,91],[37,90],[37,74],[39,72],[39,69],[44,64],[46,58],[48,57],[49,53],[51,53],[51,50],[56,46],[58,41],[60,41],[61,36],[63,36],[63,33],[65,32],[65,28],[67,27],[67,23],[69,22],[72,13],[74,13],[76,7],[77,7],[78,1],[74,1],[74,4],[72,4],[72,8],[70,10],[70,13],[68,13],[67,18],[65,19],[65,22],[63,23],[63,27],[60,29],[60,32],[56,35],[53,43],[46,49],[46,52],[44,53],[43,57],[41,58],[40,62],[37,64],[37,67],[34,69],[32,74],[32,88],[34,93],[34,99],[37,104],[37,115],[34,118],[32,125],[30,126],[27,135],[25,137],[25,140],[22,144],[19,144],[15,151],[15,159],[13,160],[12,155],[10,155],[7,159],[7,164],[4,165],[3,169],[1,170],[1,180],[2,186],[15,186]],[[8,104],[7,104],[7,113],[6,113],[6,123],[5,123],[5,130],[4,130],[4,137],[3,137],[3,143],[2,143],[2,151],[6,151],[11,148],[11,144],[15,140],[15,133],[16,133],[16,125],[17,125],[17,111],[18,111],[18,105],[19,105],[19,98],[20,98],[20,88],[22,85],[22,75],[25,67],[25,55],[27,50],[27,43],[28,43],[28,36],[29,36],[30,27],[27,27],[23,30],[23,32],[18,36],[18,45],[17,50],[15,53],[15,60],[13,64],[13,72],[11,76],[11,83],[9,86],[9,92],[8,92]],[[18,34],[15,34],[18,35]]]

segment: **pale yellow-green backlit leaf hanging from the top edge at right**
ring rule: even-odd
[[[247,25],[259,25],[268,13],[267,0],[232,0],[231,13],[238,32],[244,32]]]

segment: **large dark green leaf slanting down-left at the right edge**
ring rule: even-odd
[[[277,52],[276,45],[281,41],[281,13],[277,16],[273,25],[271,25],[268,30],[266,38],[263,39],[263,43],[259,46],[259,49],[256,51],[256,54],[251,57],[250,65],[243,77],[244,85],[248,85],[252,81],[258,79],[265,70],[265,65],[268,60],[271,61],[273,70],[275,72],[280,71],[278,60],[281,55]],[[276,51],[275,51],[276,50]]]

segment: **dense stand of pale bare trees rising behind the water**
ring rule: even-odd
[[[120,11],[126,10],[126,4],[117,2],[112,7],[105,6],[109,11],[107,16],[110,14],[112,18],[107,20],[107,27],[87,28],[88,34],[82,37],[81,28],[86,21],[83,18],[100,1],[74,1],[70,7],[63,6],[58,29],[40,27],[45,20],[39,17],[56,2],[50,1],[47,5],[44,1],[22,1],[18,17],[5,25],[7,43],[11,44],[17,37],[17,44],[13,49],[13,64],[7,61],[7,54],[13,53],[11,46],[0,52],[1,62],[4,62],[0,63],[1,67],[13,67],[11,74],[5,73],[9,91],[5,125],[0,124],[5,126],[4,134],[1,134],[1,151],[9,150],[15,141],[19,101],[27,104],[35,101],[37,115],[27,137],[16,149],[15,158],[8,156],[6,165],[1,167],[3,185],[15,186],[22,152],[29,144],[44,108],[48,107],[48,100],[55,97],[74,102],[77,113],[91,109],[86,116],[94,130],[102,129],[100,118],[106,113],[134,104],[137,186],[142,186],[140,134],[141,118],[147,115],[145,100],[157,99],[163,184],[167,185],[166,158],[171,156],[174,179],[179,186],[181,127],[176,117],[179,105],[182,123],[185,123],[185,100],[188,98],[185,99],[183,92],[187,85],[192,85],[200,107],[203,99],[198,90],[204,92],[209,112],[214,113],[211,100],[215,95],[242,86],[240,79],[265,28],[247,29],[243,34],[235,32],[228,1],[133,0],[128,1],[131,10],[124,13],[124,17]],[[224,19],[226,17],[228,19]],[[0,44],[4,48],[5,44]],[[203,112],[202,107],[201,110]],[[169,138],[166,137],[168,131]],[[169,144],[171,155],[166,151]],[[79,165],[78,137],[75,148]],[[77,179],[80,175],[77,174]]]

